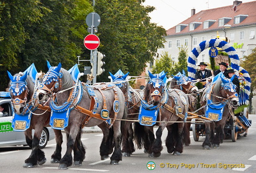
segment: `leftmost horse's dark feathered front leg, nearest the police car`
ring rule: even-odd
[[[32,151],[30,156],[27,159],[25,159],[25,164],[23,165],[24,168],[33,168],[36,167],[37,162],[39,165],[43,165],[46,162],[44,152],[41,151],[41,149],[39,148],[39,142],[42,131],[42,125],[37,125],[35,127],[34,138],[32,141]]]

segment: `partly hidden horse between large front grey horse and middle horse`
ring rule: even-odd
[[[124,94],[127,107],[127,119],[124,122],[124,130],[122,131],[122,149],[123,156],[130,156],[135,152],[135,145],[133,143],[133,128],[130,119],[137,119],[139,115],[140,95],[136,90],[133,90],[126,81],[129,72],[124,74],[121,70],[116,74],[110,73],[112,81],[118,86]]]

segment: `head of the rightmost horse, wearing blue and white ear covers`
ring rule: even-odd
[[[232,83],[235,76],[233,75],[231,79],[225,78],[223,74],[220,74],[220,79],[222,80],[220,93],[222,97],[230,100],[233,107],[238,106],[238,93],[236,93],[236,85]]]

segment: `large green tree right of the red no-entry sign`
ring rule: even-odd
[[[98,81],[108,80],[108,71],[130,71],[138,76],[152,61],[159,47],[163,47],[166,31],[150,22],[152,6],[143,6],[142,1],[99,0],[95,12],[101,17],[98,36],[101,45],[98,51],[105,54],[105,72]]]

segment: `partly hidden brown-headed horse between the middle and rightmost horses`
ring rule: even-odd
[[[180,89],[188,96],[188,111],[194,112],[197,109],[197,92],[199,89],[194,83],[185,76],[185,72],[183,74],[180,72],[176,74],[169,84],[169,88],[171,89]],[[185,146],[190,145],[190,125],[191,118],[187,118],[187,121],[184,125],[184,133],[183,133],[183,143]]]

